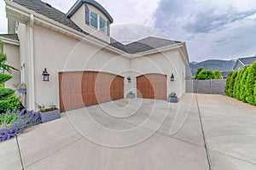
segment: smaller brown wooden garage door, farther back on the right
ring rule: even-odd
[[[166,76],[147,74],[137,77],[137,97],[147,99],[166,99]]]

